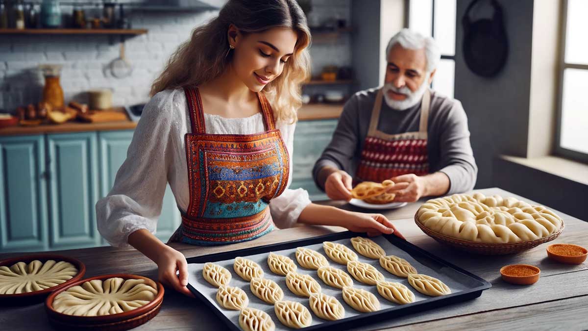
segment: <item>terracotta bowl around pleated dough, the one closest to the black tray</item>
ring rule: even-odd
[[[51,293],[47,297],[47,300],[45,300],[45,311],[49,317],[49,322],[59,330],[128,330],[146,323],[159,313],[164,293],[163,285],[159,282],[155,282],[158,292],[153,301],[145,304],[145,306],[129,310],[128,312],[102,316],[74,316],[59,313],[53,309],[53,302],[59,293],[62,293],[73,286],[89,282],[90,280],[105,280],[113,277],[120,277],[122,279],[145,279],[155,282],[147,277],[126,273],[104,274],[102,276],[78,280],[75,283],[69,284],[67,287],[62,287],[58,291]]]

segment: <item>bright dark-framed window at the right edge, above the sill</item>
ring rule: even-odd
[[[588,1],[563,4],[556,153],[588,162]]]

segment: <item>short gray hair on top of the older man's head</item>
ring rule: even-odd
[[[439,60],[441,59],[441,51],[435,39],[425,37],[419,34],[419,32],[404,28],[390,38],[386,47],[386,57],[390,54],[390,49],[396,44],[400,44],[400,46],[406,49],[425,48],[427,72],[432,72],[437,68],[437,64],[439,64]]]

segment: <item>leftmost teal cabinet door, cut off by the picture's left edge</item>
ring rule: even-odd
[[[48,249],[45,137],[0,137],[0,251]]]

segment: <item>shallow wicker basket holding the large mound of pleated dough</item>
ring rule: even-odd
[[[527,240],[527,241],[519,241],[517,243],[477,243],[475,241],[463,240],[463,239],[456,239],[453,237],[446,236],[445,234],[441,234],[435,231],[430,230],[429,228],[425,227],[422,223],[420,223],[417,214],[415,214],[415,223],[417,226],[423,230],[427,236],[432,237],[433,239],[439,241],[442,244],[447,244],[449,246],[455,247],[456,249],[465,250],[470,253],[476,254],[484,254],[484,255],[503,255],[503,254],[513,254],[519,253],[520,251],[524,251],[527,249],[532,249],[535,246],[539,246],[540,244],[547,243],[547,241],[552,241],[559,237],[562,234],[564,224],[562,220],[562,227],[559,228],[556,232],[551,234],[550,236],[536,239],[536,240]]]

